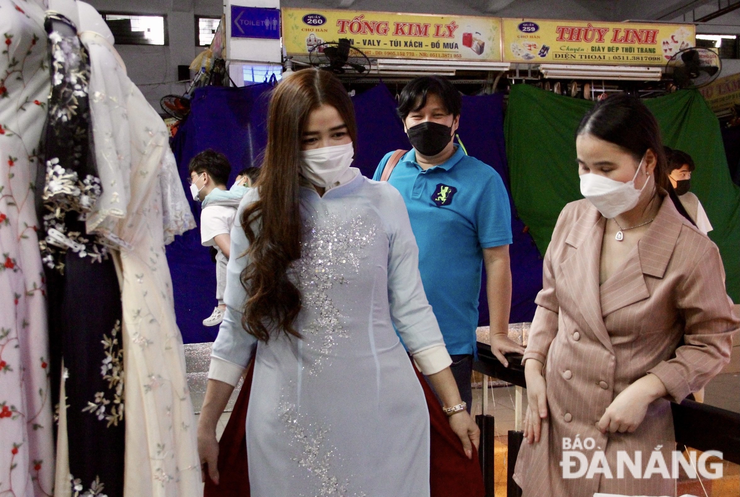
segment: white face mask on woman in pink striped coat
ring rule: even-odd
[[[640,200],[642,190],[647,186],[648,176],[645,184],[641,189],[635,188],[635,180],[642,168],[645,158],[642,158],[640,165],[632,180],[627,183],[622,181],[611,180],[608,177],[588,173],[581,175],[581,195],[588,198],[602,216],[611,218],[634,209]]]

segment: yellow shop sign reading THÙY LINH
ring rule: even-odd
[[[505,18],[501,25],[506,62],[660,66],[696,45],[693,24]]]

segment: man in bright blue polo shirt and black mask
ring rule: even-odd
[[[440,76],[414,79],[400,95],[398,115],[414,146],[392,169],[388,183],[406,202],[419,246],[426,297],[452,357],[462,400],[471,408],[471,373],[476,351],[478,296],[485,263],[491,317],[491,349],[524,353],[508,339],[511,308],[511,210],[499,174],[454,144],[462,98]],[[380,180],[388,153],[373,177]]]

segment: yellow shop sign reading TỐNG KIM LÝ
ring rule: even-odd
[[[501,61],[501,19],[284,7],[288,55],[349,38],[369,58]]]

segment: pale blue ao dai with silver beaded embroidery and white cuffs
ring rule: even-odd
[[[301,189],[308,231],[291,276],[303,297],[302,339],[280,333],[257,344],[243,330],[248,261],[229,260],[209,377],[234,385],[256,345],[246,417],[253,497],[429,495],[428,410],[394,325],[412,354],[444,342],[403,200],[355,174],[323,197]],[[248,246],[235,225],[232,254]]]

